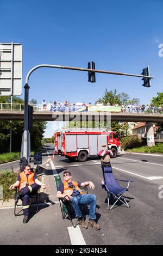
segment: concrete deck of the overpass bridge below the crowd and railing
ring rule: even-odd
[[[1,110],[0,120],[24,120],[24,111]],[[121,121],[163,123],[163,114],[128,112],[53,112],[35,111],[34,121]]]

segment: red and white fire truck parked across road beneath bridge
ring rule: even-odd
[[[54,134],[55,154],[67,157],[70,161],[87,160],[88,156],[96,156],[101,150],[102,143],[106,143],[113,156],[120,155],[120,137],[115,131],[64,131]],[[57,148],[58,147],[58,148]]]

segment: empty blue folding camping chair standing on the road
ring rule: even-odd
[[[130,182],[133,182],[131,180],[119,180],[123,182],[128,182],[128,186],[123,188],[118,183],[117,179],[115,179],[115,176],[112,174],[112,168],[111,166],[104,167],[104,177],[105,177],[105,186],[106,191],[108,192],[108,208],[111,210],[114,205],[120,200],[123,204],[125,204],[127,207],[129,207],[128,203],[123,197],[123,193],[128,191]],[[116,202],[111,206],[109,204],[109,196],[112,194]]]

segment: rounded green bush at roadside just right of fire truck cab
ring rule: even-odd
[[[143,141],[143,139],[139,139],[137,137],[123,137],[121,141],[121,148],[126,149],[132,149],[132,148],[139,148],[143,145],[145,145],[146,142]]]

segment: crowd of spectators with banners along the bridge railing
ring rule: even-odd
[[[48,111],[76,111],[79,108],[86,108],[86,111],[88,111],[88,108],[91,108],[92,106],[104,106],[102,102],[96,102],[95,105],[92,105],[91,102],[88,104],[83,102],[73,102],[70,103],[70,101],[65,100],[64,102],[57,102],[57,101],[50,101],[49,103],[46,103],[45,100],[42,101],[42,109],[43,110],[48,110]],[[110,105],[110,103],[107,103],[106,106],[110,107],[121,107],[121,112],[128,112],[128,113],[162,113],[162,108],[163,106],[156,107],[155,105],[144,105],[144,104],[139,104],[139,105],[124,105],[122,104],[121,106],[115,103],[114,105]]]

